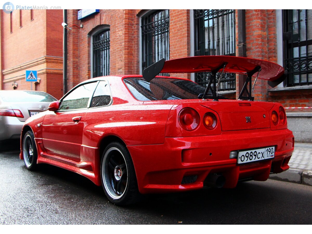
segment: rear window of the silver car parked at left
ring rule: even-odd
[[[56,99],[45,92],[36,91],[4,91],[0,96],[5,102],[53,102]]]

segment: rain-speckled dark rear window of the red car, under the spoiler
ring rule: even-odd
[[[147,82],[143,78],[125,78],[125,84],[137,100],[198,99],[205,88],[190,80],[154,78]]]

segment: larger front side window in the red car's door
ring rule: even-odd
[[[59,110],[73,110],[88,107],[89,98],[91,97],[97,82],[88,83],[77,87],[71,91],[60,103]]]

